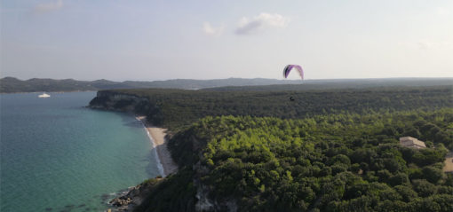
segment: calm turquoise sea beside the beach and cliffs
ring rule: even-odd
[[[0,95],[0,211],[103,211],[159,175],[133,116],[87,106],[95,92]]]

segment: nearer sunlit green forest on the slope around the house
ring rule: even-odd
[[[442,172],[452,130],[452,108],[206,117],[171,138],[181,171],[148,181],[136,211],[194,211],[200,192],[218,211],[452,211],[453,176]],[[402,147],[404,136],[427,148]]]

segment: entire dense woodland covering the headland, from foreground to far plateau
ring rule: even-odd
[[[111,92],[173,132],[179,172],[135,211],[453,211],[451,86]]]

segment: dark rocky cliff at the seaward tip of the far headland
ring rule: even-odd
[[[89,107],[135,114],[146,114],[149,111],[149,100],[135,95],[111,90],[98,91],[96,98],[90,101]]]

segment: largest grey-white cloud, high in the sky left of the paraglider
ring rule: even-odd
[[[253,18],[243,17],[235,30],[237,35],[250,35],[254,32],[270,27],[286,27],[290,23],[290,18],[280,14],[262,12]]]

